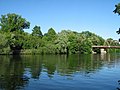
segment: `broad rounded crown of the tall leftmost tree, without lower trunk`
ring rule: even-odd
[[[20,15],[9,13],[7,15],[1,15],[0,27],[1,30],[5,32],[21,32],[23,29],[28,29],[30,27],[30,22],[26,21],[26,19],[22,18]]]

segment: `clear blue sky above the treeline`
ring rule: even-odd
[[[61,32],[90,31],[104,39],[118,40],[120,16],[113,13],[120,0],[0,0],[0,15],[16,13],[30,22],[32,32],[35,25],[47,33],[49,28]]]

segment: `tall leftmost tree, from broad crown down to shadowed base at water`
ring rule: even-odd
[[[25,18],[22,18],[20,15],[15,13],[1,15],[0,18],[0,31],[10,34],[8,39],[9,47],[13,54],[16,54],[18,51],[23,49],[24,43],[24,31],[23,29],[28,29],[30,27],[30,22],[26,21]]]

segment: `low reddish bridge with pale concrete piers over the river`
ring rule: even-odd
[[[93,49],[95,48],[99,48],[100,49],[100,53],[107,53],[105,49],[120,49],[120,46],[92,46],[92,52],[93,53],[97,53],[97,52],[94,52]]]

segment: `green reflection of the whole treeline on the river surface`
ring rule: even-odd
[[[0,56],[0,89],[27,87],[30,79],[40,80],[42,72],[46,72],[49,78],[53,78],[55,73],[60,76],[73,76],[74,73],[90,76],[103,66],[120,65],[119,58],[118,54]]]

